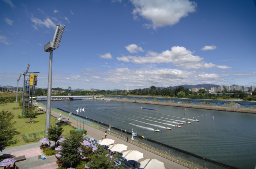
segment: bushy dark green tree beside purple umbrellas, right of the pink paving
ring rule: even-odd
[[[78,161],[79,152],[78,148],[81,146],[80,142],[83,138],[83,134],[79,132],[73,132],[68,138],[64,139],[61,144],[60,160],[69,163],[70,166],[74,166]]]

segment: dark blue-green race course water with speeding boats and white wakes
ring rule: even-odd
[[[54,101],[51,107],[72,113],[84,107],[85,117],[123,130],[133,129],[146,138],[199,156],[241,169],[256,165],[256,114],[186,108],[184,115],[184,107],[117,101]],[[172,130],[165,129],[167,126]]]

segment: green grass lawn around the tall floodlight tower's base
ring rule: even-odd
[[[14,147],[14,146],[20,146],[20,145],[26,145],[31,144],[35,142],[25,142],[22,138],[22,135],[25,134],[25,131],[27,134],[37,132],[37,131],[44,131],[45,130],[45,115],[46,113],[44,111],[38,111],[37,116],[33,119],[34,123],[30,123],[29,119],[27,118],[18,118],[18,115],[22,115],[22,109],[12,109],[12,107],[19,107],[19,103],[7,103],[7,104],[1,104],[0,105],[0,111],[11,111],[15,117],[14,121],[17,121],[15,124],[15,128],[20,132],[19,134],[16,134],[13,138],[13,140],[18,139],[19,142],[17,142],[14,145],[8,146],[8,147]],[[51,116],[50,125],[54,125],[54,119],[55,117]],[[59,121],[56,121],[59,122]],[[74,130],[70,125],[62,125],[64,132],[61,134],[63,137],[69,136],[69,131]]]

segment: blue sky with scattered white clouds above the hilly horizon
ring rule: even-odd
[[[44,45],[58,23],[52,87],[256,86],[253,0],[0,0],[0,11],[1,86],[30,64],[47,88]]]

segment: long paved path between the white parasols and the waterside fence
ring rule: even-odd
[[[39,106],[39,105],[37,105],[37,106]],[[43,107],[43,106],[41,106],[41,107]],[[51,115],[53,115],[54,117],[59,117],[59,112],[52,111]],[[68,119],[67,116],[62,114],[61,117],[66,118],[66,120],[63,120],[63,121],[68,121],[67,120]],[[77,123],[77,121],[75,119],[69,118],[68,122],[71,122],[70,124],[72,126],[74,126],[74,127],[78,126],[79,128],[81,127],[83,129],[83,123],[82,124],[80,122]],[[102,139],[102,135],[105,136],[105,133],[103,131],[100,131],[98,129],[95,129],[94,127],[91,127],[91,126],[88,126],[88,125],[85,125],[85,124],[84,124],[84,130],[87,130],[87,135],[90,138],[93,137],[93,138],[95,138],[97,140],[101,140]],[[119,139],[119,138],[116,138],[116,137],[114,137],[112,135],[108,135],[108,138],[111,138],[111,139],[115,140],[119,144],[127,145],[128,146],[127,147],[128,150],[138,150],[139,152],[142,152],[144,154],[143,155],[144,158],[139,160],[139,161],[143,161],[143,160],[145,160],[147,158],[152,158],[152,159],[157,159],[157,160],[163,162],[166,169],[187,169],[187,167],[185,167],[185,166],[182,166],[182,165],[177,164],[177,163],[175,163],[173,161],[170,161],[170,160],[168,160],[166,158],[158,156],[157,154],[148,152],[145,149],[139,148],[139,147],[137,147],[137,146],[135,146],[135,145],[133,145],[133,144],[131,144],[129,142],[127,143],[126,141],[124,141],[122,139]]]

